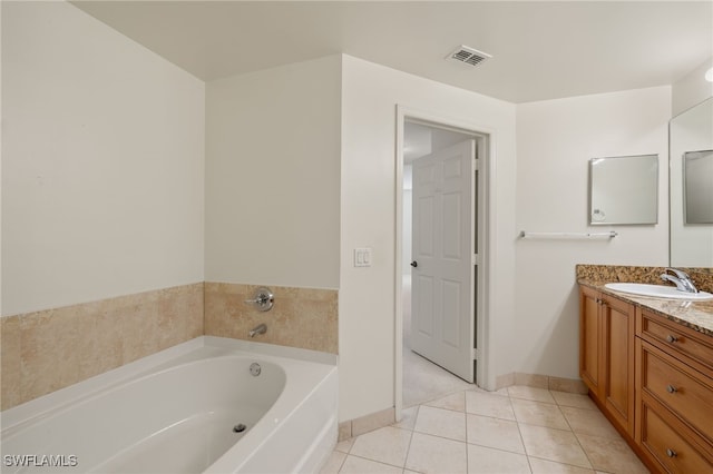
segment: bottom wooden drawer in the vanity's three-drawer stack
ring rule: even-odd
[[[655,404],[643,403],[642,443],[646,454],[670,473],[710,473],[713,470],[713,446],[684,434],[675,418]]]

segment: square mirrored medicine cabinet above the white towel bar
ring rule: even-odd
[[[589,225],[658,223],[658,155],[589,160]]]

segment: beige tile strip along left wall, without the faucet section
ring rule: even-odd
[[[203,283],[1,319],[1,408],[203,334]]]

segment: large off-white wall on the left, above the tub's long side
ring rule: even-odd
[[[2,43],[2,314],[202,282],[203,82],[66,2]]]

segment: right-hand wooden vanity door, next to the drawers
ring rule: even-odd
[[[634,434],[634,305],[604,295],[602,305],[604,402],[628,434]]]

